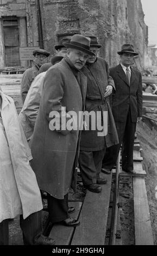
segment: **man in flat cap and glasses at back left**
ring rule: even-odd
[[[21,81],[21,97],[23,103],[26,99],[30,85],[32,84],[34,78],[39,74],[40,67],[46,62],[49,54],[50,53],[44,49],[36,49],[33,51],[34,65],[32,66],[32,68],[27,69],[23,73]]]

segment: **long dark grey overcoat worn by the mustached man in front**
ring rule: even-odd
[[[66,107],[66,113],[75,111],[78,115],[83,111],[86,83],[86,77],[80,74],[79,86],[65,59],[47,71],[43,83],[39,113],[30,142],[32,167],[40,189],[58,199],[64,199],[71,185],[74,189],[76,187],[80,131],[52,131],[49,124],[53,119],[49,114],[57,111],[61,117],[64,115],[61,107]]]

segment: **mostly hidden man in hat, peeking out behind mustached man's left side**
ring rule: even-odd
[[[70,36],[64,36],[64,38],[60,39],[58,44],[54,46],[56,50],[56,55],[58,57],[65,57],[66,55],[66,47],[63,45],[65,42],[70,42]],[[51,68],[52,65],[54,65],[54,56],[52,56],[51,62],[45,63],[41,66],[39,73],[47,71],[49,68]]]

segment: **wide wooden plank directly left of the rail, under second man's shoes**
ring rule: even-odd
[[[101,193],[87,190],[80,213],[80,226],[76,228],[71,245],[104,245],[112,175],[102,174],[108,183],[102,186]]]

